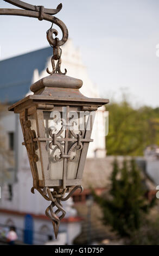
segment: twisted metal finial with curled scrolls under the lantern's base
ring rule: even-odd
[[[55,237],[58,236],[60,221],[65,217],[66,211],[63,209],[61,201],[66,201],[68,198],[72,196],[75,190],[80,188],[81,192],[83,191],[82,186],[75,186],[71,192],[69,192],[69,188],[65,188],[60,190],[60,188],[54,188],[54,191],[50,191],[49,187],[44,187],[43,190],[40,188],[36,188],[37,191],[42,195],[42,197],[52,203],[47,207],[45,214],[50,220],[52,220]],[[34,193],[35,187],[31,188],[31,192]],[[69,194],[65,196],[65,193]],[[54,207],[57,209],[54,211]],[[61,215],[58,214],[61,212]]]

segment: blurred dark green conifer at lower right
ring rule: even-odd
[[[144,196],[145,190],[135,160],[129,163],[125,160],[120,169],[117,160],[114,161],[109,194],[109,197],[94,194],[103,210],[104,224],[110,224],[121,236],[131,236],[141,227],[143,214],[148,213],[153,205]]]

